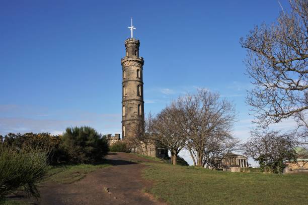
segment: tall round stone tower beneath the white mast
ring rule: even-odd
[[[122,139],[134,137],[136,128],[144,125],[143,114],[143,58],[139,57],[140,42],[125,40],[126,55],[122,64]]]

